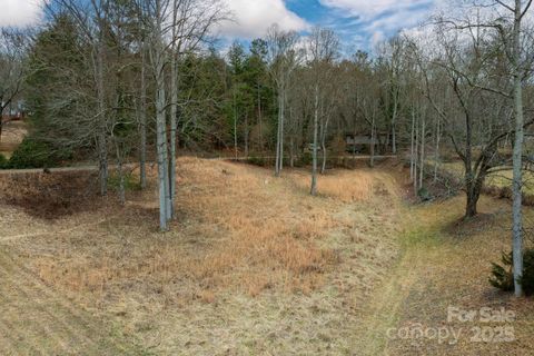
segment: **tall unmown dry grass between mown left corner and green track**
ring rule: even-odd
[[[304,171],[277,179],[194,158],[178,167],[170,233],[157,231],[149,189],[125,208],[108,201],[53,221],[10,202],[7,244],[47,285],[119,317],[162,354],[349,349],[365,298],[397,254],[393,178],[339,170],[310,197]]]

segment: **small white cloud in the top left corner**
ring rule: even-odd
[[[26,27],[42,16],[42,0],[0,0],[0,27]]]

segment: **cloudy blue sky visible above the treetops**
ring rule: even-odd
[[[0,26],[28,26],[41,18],[44,0],[0,0]],[[249,41],[273,23],[306,33],[334,29],[347,50],[372,50],[403,29],[416,27],[443,0],[222,0],[233,16],[218,28],[224,41]]]

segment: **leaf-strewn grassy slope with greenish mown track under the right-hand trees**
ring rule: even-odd
[[[396,328],[421,324],[423,328],[462,329],[457,344],[433,339],[395,339],[384,348],[388,355],[531,355],[534,352],[534,306],[532,299],[515,299],[490,286],[490,261],[510,250],[510,207],[504,200],[482,197],[481,216],[459,222],[464,197],[409,208],[403,240],[405,254],[395,284],[398,307]],[[533,210],[526,210],[526,219]],[[406,266],[409,266],[406,268]],[[404,290],[399,295],[399,290]],[[447,322],[447,308],[479,310],[482,307],[513,310],[510,324]],[[512,326],[513,343],[474,343],[473,328]]]

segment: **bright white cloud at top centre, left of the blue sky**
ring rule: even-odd
[[[233,18],[218,28],[225,37],[254,39],[264,36],[274,23],[283,30],[300,31],[309,27],[283,0],[225,0],[225,3]]]

